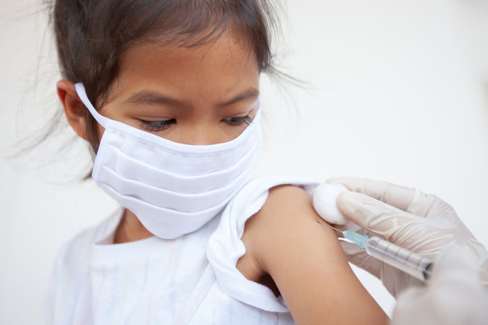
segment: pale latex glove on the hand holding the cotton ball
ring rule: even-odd
[[[369,179],[337,178],[327,183],[340,183],[350,190],[337,197],[337,207],[346,218],[407,250],[434,260],[446,245],[458,243],[478,258],[488,255],[454,209],[435,195]],[[370,257],[356,244],[341,241],[341,245],[349,262],[379,278],[392,296],[410,285],[422,284]]]

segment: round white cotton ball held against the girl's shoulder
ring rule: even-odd
[[[313,205],[323,220],[333,225],[346,225],[348,223],[349,220],[342,216],[336,204],[337,197],[345,190],[347,188],[340,184],[322,183],[317,186],[314,191]]]

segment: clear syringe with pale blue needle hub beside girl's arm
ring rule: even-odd
[[[376,236],[368,237],[349,230],[342,231],[323,222],[319,223],[340,232],[346,239],[356,243],[360,248],[365,248],[367,255],[380,259],[419,280],[429,280],[430,272],[434,267],[429,259]]]

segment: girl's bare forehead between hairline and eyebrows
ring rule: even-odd
[[[162,88],[174,96],[206,96],[221,100],[259,80],[256,55],[231,33],[196,47],[144,43],[130,48],[119,61],[115,88]],[[118,91],[117,91],[118,92]]]

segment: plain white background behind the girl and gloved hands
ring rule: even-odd
[[[264,78],[261,172],[420,188],[488,245],[487,2],[287,1],[281,66],[309,85],[283,90]],[[68,129],[8,158],[61,108],[40,1],[0,9],[0,324],[40,324],[60,245],[115,205],[76,180],[89,156],[79,142],[61,150]],[[392,298],[357,272],[390,312]]]

